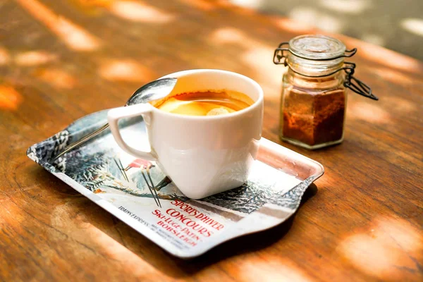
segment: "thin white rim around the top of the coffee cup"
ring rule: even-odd
[[[253,104],[251,104],[250,106],[247,106],[247,108],[245,109],[242,109],[240,111],[235,111],[230,114],[219,115],[219,116],[190,116],[190,115],[183,115],[183,114],[173,114],[173,113],[169,113],[168,111],[161,111],[160,109],[157,109],[152,104],[148,103],[150,106],[152,106],[153,111],[163,114],[164,116],[171,116],[173,118],[208,121],[208,120],[216,120],[216,119],[223,119],[223,118],[235,118],[249,111],[252,111],[253,109],[257,108],[257,106],[263,103],[264,92],[262,87],[259,85],[259,83],[253,80],[252,78],[249,78],[245,75],[241,75],[240,73],[235,73],[233,71],[224,71],[224,70],[219,70],[214,68],[197,68],[197,69],[191,69],[186,71],[178,71],[176,73],[170,73],[168,75],[162,76],[161,78],[179,78],[181,76],[190,75],[192,73],[226,73],[228,75],[238,76],[238,78],[242,78],[243,80],[248,80],[249,82],[252,83],[252,85],[257,89],[259,93],[259,98]],[[158,79],[161,79],[161,78],[158,78]]]

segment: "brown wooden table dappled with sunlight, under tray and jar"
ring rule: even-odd
[[[307,32],[225,1],[0,1],[0,281],[422,281],[423,63],[358,47],[345,141],[309,152],[278,140],[279,42]],[[154,6],[153,6],[154,4]],[[264,88],[264,137],[326,168],[298,213],[202,257],[168,255],[27,159],[81,116],[140,85],[222,68]]]

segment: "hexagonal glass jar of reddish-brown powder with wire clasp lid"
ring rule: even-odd
[[[281,140],[307,149],[343,141],[346,88],[377,99],[353,77],[355,64],[344,62],[356,51],[323,35],[302,35],[279,45],[274,62],[288,66],[282,83]]]

